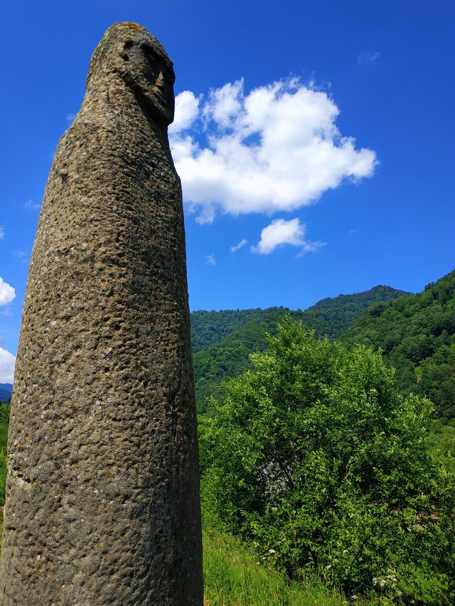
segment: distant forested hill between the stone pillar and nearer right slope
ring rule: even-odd
[[[251,366],[249,354],[265,350],[266,333],[274,334],[277,324],[286,315],[302,320],[308,328],[314,328],[317,336],[327,335],[337,339],[372,303],[407,294],[403,290],[379,285],[354,295],[322,299],[305,311],[272,307],[192,312],[190,319],[198,412],[207,412],[210,396],[223,398],[223,381],[240,375]]]

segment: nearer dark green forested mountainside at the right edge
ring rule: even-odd
[[[426,395],[455,417],[455,270],[416,295],[372,305],[342,336],[382,348],[400,390]]]

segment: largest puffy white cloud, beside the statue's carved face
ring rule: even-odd
[[[180,93],[170,146],[187,210],[200,223],[217,213],[292,211],[346,178],[371,176],[374,151],[341,135],[339,113],[325,92],[296,78],[249,93],[241,79],[204,102]]]

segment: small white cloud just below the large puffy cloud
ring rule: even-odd
[[[300,223],[299,219],[275,219],[261,231],[261,239],[257,246],[252,246],[253,253],[269,255],[281,244],[291,244],[302,248],[302,253],[315,251],[323,242],[308,242],[305,240],[306,225]]]

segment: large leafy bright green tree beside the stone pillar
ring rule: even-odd
[[[399,395],[371,349],[291,321],[251,358],[201,439],[213,519],[351,595],[453,603],[453,467],[430,448],[431,403]]]

